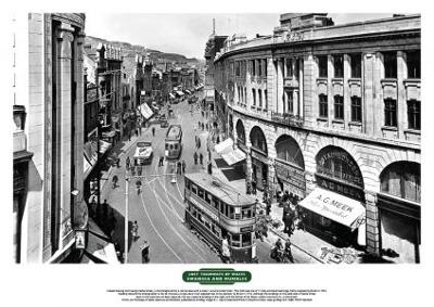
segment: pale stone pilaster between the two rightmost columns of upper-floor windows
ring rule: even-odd
[[[406,88],[404,86],[404,80],[408,77],[407,72],[407,54],[403,51],[398,51],[396,54],[397,60],[397,112],[398,112],[398,138],[405,139],[406,136],[404,130],[408,128],[408,117],[407,117],[407,99],[406,99]]]

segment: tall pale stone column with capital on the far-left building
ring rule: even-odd
[[[71,226],[71,152],[74,150],[71,146],[71,118],[72,118],[72,79],[71,79],[71,60],[72,60],[72,42],[74,41],[74,28],[65,23],[62,23],[58,28],[58,104],[61,106],[61,113],[58,121],[61,137],[61,152],[58,156],[60,159],[60,200],[54,200],[56,205],[60,206],[60,244],[59,250],[62,250],[67,244],[72,235]]]

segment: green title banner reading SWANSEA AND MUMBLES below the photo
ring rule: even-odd
[[[200,284],[234,284],[235,282],[250,282],[252,273],[234,269],[200,269],[199,271],[184,271],[182,280]]]

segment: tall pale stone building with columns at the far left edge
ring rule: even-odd
[[[26,16],[27,17],[27,16]],[[62,261],[87,225],[84,175],[84,14],[16,21],[14,251],[17,263]],[[16,43],[16,44],[15,44]]]

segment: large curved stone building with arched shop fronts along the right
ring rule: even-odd
[[[303,200],[310,232],[394,263],[420,260],[420,15],[283,14],[214,59],[247,180]]]

